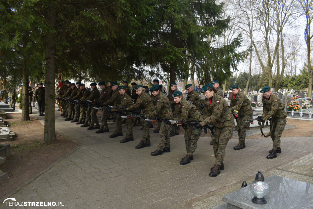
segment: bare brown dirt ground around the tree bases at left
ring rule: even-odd
[[[7,119],[4,119],[15,137],[13,141],[0,142],[10,144],[11,147],[11,155],[1,166],[1,170],[8,172],[8,176],[0,181],[0,199],[79,146],[59,134],[56,134],[57,142],[44,145],[44,125],[33,117],[30,121],[20,122],[21,115],[7,114]]]

